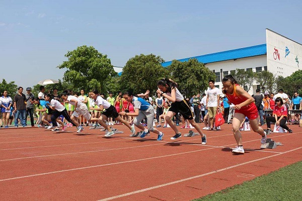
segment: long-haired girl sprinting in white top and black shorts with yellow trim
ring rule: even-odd
[[[164,78],[159,80],[157,85],[159,89],[156,92],[162,94],[163,97],[167,98],[172,102],[169,112],[165,117],[167,123],[175,131],[175,136],[173,136],[171,140],[175,140],[181,137],[181,133],[172,122],[172,118],[177,113],[181,113],[182,117],[187,119],[190,124],[197,130],[197,132],[201,135],[201,144],[206,144],[206,136],[202,133],[200,127],[195,122],[193,118],[194,115],[190,107],[184,99],[184,96],[177,89],[177,83],[175,83],[172,79]]]

